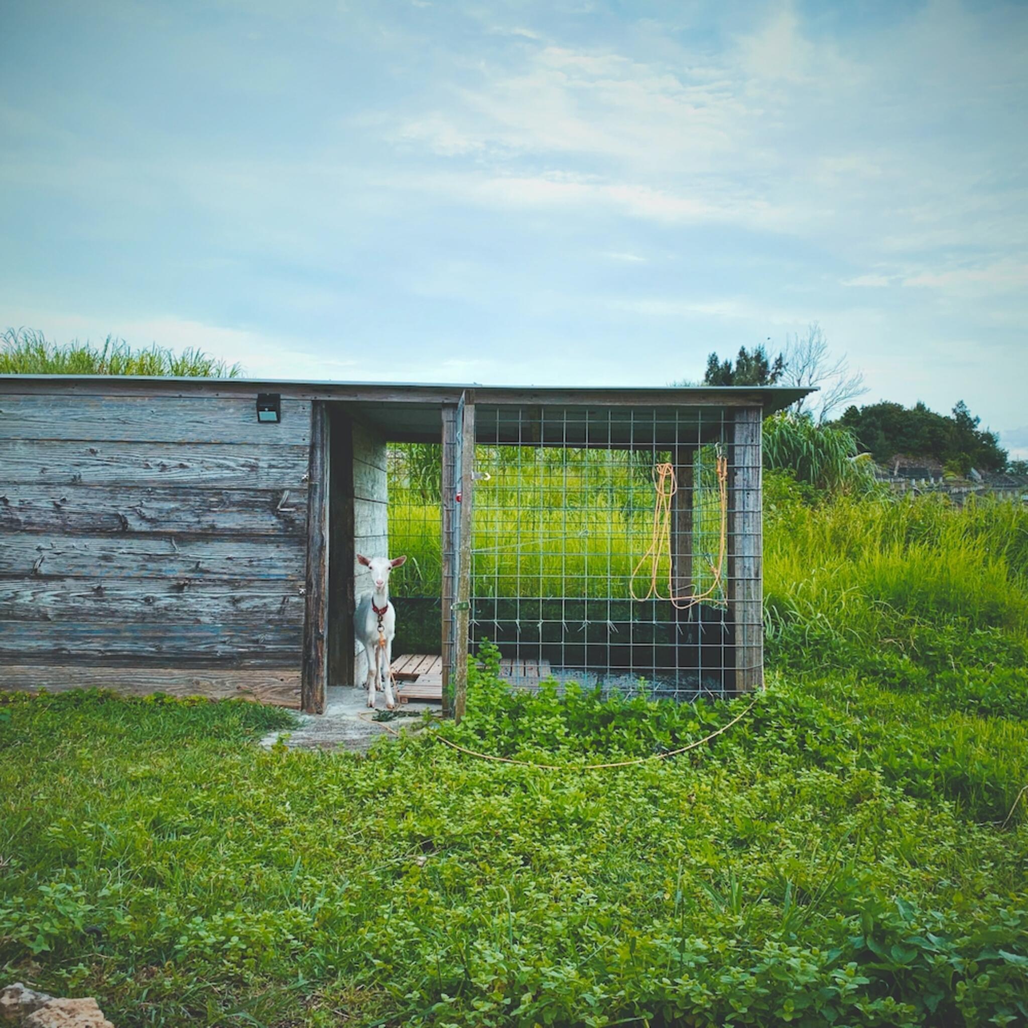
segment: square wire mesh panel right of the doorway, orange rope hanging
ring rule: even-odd
[[[477,418],[472,638],[499,647],[505,676],[677,698],[732,689],[731,412],[480,406]]]

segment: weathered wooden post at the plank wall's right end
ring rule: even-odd
[[[325,710],[328,651],[325,647],[328,613],[329,467],[331,443],[328,406],[316,400],[310,407],[310,458],[307,467],[307,576],[303,620],[303,674],[300,706],[307,713]]]

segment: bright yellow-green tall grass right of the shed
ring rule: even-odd
[[[778,505],[765,531],[765,605],[785,628],[867,647],[918,623],[1028,638],[1028,511],[924,498]]]

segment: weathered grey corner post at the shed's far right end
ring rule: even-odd
[[[729,489],[728,600],[735,626],[735,690],[764,683],[760,407],[735,412]]]

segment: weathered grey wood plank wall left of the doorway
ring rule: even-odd
[[[3,388],[0,688],[297,706],[309,401]]]

